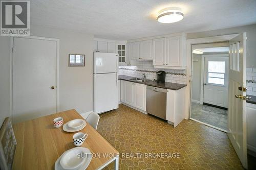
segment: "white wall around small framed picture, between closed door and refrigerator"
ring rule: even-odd
[[[60,111],[93,110],[93,35],[63,29],[31,26],[32,36],[59,38]],[[69,67],[69,54],[85,54],[84,67]]]

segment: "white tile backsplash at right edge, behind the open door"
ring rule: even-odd
[[[256,95],[256,68],[246,68],[246,93]]]

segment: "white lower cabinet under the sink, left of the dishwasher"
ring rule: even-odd
[[[121,80],[121,102],[146,111],[146,85]]]

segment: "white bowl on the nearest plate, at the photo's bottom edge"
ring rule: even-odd
[[[81,149],[74,148],[72,150],[63,153],[59,163],[63,169],[77,169],[84,162],[84,158],[79,157],[78,154],[81,153]]]

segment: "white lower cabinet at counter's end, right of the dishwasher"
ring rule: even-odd
[[[167,89],[166,120],[169,124],[178,126],[184,119],[185,88],[179,90]]]

